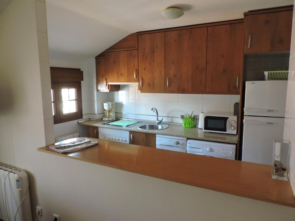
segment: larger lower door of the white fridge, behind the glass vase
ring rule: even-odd
[[[283,138],[285,118],[244,118],[242,161],[272,164],[273,139]]]

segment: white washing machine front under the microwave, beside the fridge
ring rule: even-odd
[[[199,154],[234,160],[236,145],[188,139],[186,152],[189,154]]]

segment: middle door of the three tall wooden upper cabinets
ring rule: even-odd
[[[165,92],[206,90],[207,27],[165,32]]]

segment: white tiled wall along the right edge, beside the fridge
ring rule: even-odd
[[[295,11],[293,11],[289,70],[284,138],[291,142],[289,178],[295,196]]]

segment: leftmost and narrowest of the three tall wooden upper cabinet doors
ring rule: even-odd
[[[138,35],[138,74],[141,92],[165,91],[165,32]]]

